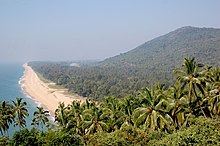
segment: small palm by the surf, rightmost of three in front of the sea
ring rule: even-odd
[[[43,107],[37,107],[37,111],[34,112],[34,119],[32,120],[31,125],[41,125],[43,130],[44,125],[47,125],[50,116],[49,111],[45,111]]]

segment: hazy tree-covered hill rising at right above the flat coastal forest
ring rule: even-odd
[[[137,48],[100,63],[103,66],[145,66],[150,70],[172,70],[185,57],[216,65],[220,62],[220,29],[182,27]]]

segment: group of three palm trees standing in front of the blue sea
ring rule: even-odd
[[[20,129],[26,127],[26,117],[29,116],[28,106],[26,102],[22,101],[22,98],[16,98],[9,104],[6,101],[0,102],[0,133],[1,135],[8,135],[8,130],[11,124],[18,126]],[[48,126],[49,112],[45,111],[43,107],[37,107],[34,112],[34,119],[31,125],[35,127],[44,125]]]

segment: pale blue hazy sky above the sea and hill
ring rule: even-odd
[[[0,62],[104,59],[219,15],[220,0],[0,0]]]

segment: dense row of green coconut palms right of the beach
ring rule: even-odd
[[[61,130],[85,136],[126,126],[170,132],[188,126],[191,117],[219,118],[220,68],[185,58],[183,68],[174,72],[177,75],[174,85],[143,88],[135,97],[110,96],[99,103],[73,101],[67,106],[60,103],[55,121]]]

